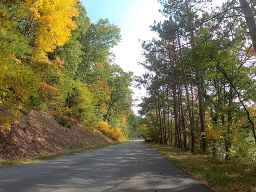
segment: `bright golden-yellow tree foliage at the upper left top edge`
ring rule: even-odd
[[[35,35],[32,55],[38,61],[46,59],[46,52],[63,45],[76,28],[72,17],[78,16],[78,0],[26,0],[30,10],[29,30]],[[26,34],[25,34],[26,35]]]

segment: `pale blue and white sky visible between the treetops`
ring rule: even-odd
[[[140,40],[151,40],[157,35],[150,31],[150,25],[154,21],[165,20],[158,11],[162,6],[157,0],[81,0],[86,8],[87,16],[91,22],[97,22],[99,18],[108,18],[110,23],[121,28],[122,41],[113,48],[116,55],[115,63],[120,65],[124,71],[132,71],[136,76],[144,73],[141,56],[142,48]],[[213,0],[213,6],[225,0]],[[140,98],[146,95],[146,90],[132,88],[133,98]],[[139,102],[136,102],[138,104]],[[132,110],[137,114],[139,108],[134,106]]]

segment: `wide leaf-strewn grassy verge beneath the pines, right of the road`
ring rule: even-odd
[[[216,192],[256,192],[256,165],[234,164],[174,147],[148,145]]]

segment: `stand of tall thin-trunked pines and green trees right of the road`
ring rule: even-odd
[[[148,139],[232,162],[256,161],[256,1],[159,0],[142,41]]]

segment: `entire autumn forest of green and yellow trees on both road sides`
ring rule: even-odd
[[[159,0],[163,22],[142,41],[146,72],[115,64],[122,40],[78,0],[0,2],[0,128],[42,110],[113,140],[144,135],[222,160],[256,160],[254,0]],[[147,90],[140,117],[132,90]]]

